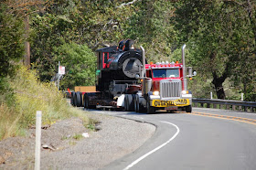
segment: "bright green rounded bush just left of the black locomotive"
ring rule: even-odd
[[[95,84],[96,57],[86,45],[64,44],[54,48],[55,60],[65,66],[66,74],[61,80],[62,89]],[[58,62],[56,62],[57,65]]]

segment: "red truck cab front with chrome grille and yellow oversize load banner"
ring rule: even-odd
[[[162,62],[145,65],[145,91],[147,112],[156,110],[176,111],[185,108],[191,112],[192,93],[185,90],[183,65],[178,62]],[[187,76],[187,75],[186,75]]]

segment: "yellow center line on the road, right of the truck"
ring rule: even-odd
[[[198,115],[198,116],[207,116],[207,117],[213,117],[213,118],[224,119],[224,120],[246,122],[246,123],[256,125],[256,120],[249,119],[249,118],[242,118],[242,117],[235,117],[235,116],[228,116],[228,115],[219,115],[219,114],[212,114],[212,113],[206,113],[206,112],[178,112],[178,113],[193,114],[193,115]]]

